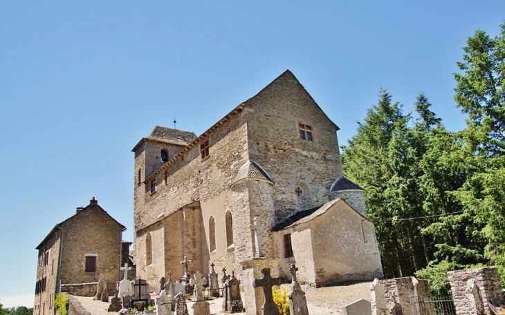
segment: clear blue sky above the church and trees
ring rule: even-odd
[[[356,131],[380,88],[423,91],[451,131],[461,47],[504,1],[2,1],[0,303],[33,307],[35,247],[94,196],[133,240],[131,149],[156,125],[203,133],[291,70]]]

